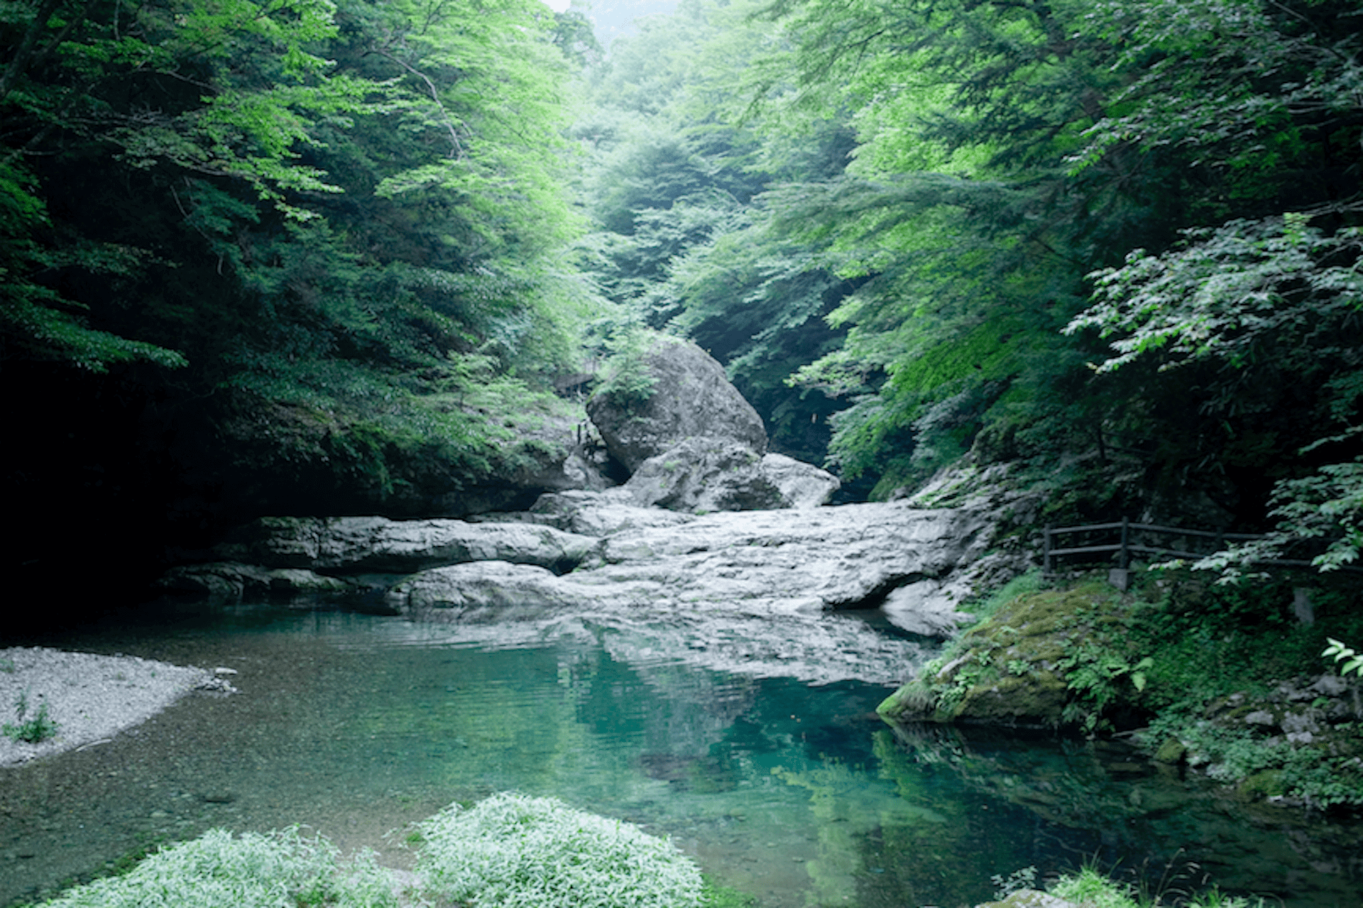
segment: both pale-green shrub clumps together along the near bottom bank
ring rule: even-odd
[[[551,798],[493,795],[420,825],[417,870],[399,879],[373,852],[342,859],[322,836],[213,829],[42,908],[721,908],[741,904],[705,883],[671,843]]]

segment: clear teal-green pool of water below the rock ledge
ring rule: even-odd
[[[1092,748],[897,739],[874,716],[887,687],[713,671],[656,627],[507,630],[254,607],[35,641],[233,668],[241,693],[195,694],[109,744],[0,770],[0,904],[211,826],[305,823],[401,866],[406,823],[503,789],[669,834],[767,908],[955,908],[1018,867],[1210,844],[1179,810],[1182,783],[1135,766],[1130,783],[1090,784],[1084,772],[1105,770],[1075,766]],[[1168,803],[1114,810],[1142,785],[1137,800]],[[1071,828],[1062,802],[1089,796],[1111,803]],[[1292,905],[1359,904],[1356,867],[1281,852],[1291,878],[1249,859],[1236,882]]]

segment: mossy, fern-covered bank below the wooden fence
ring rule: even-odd
[[[1325,654],[1363,635],[1347,586],[1318,586],[1313,622],[1291,582],[1216,585],[1202,574],[1020,578],[880,706],[894,721],[990,723],[1120,733],[1178,772],[1244,800],[1363,806],[1359,687]]]

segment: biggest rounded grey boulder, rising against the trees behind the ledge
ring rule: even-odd
[[[766,453],[762,417],[699,346],[660,335],[641,368],[652,380],[647,399],[607,390],[587,401],[587,416],[607,450],[631,473],[695,438],[735,442],[758,457]]]

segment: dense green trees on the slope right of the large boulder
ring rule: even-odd
[[[1078,458],[1071,517],[1276,515],[1244,558],[1334,566],[1359,514],[1360,14],[686,3],[596,71],[630,119],[592,131],[592,267],[725,361],[778,447],[818,450],[796,424],[831,416],[830,465],[875,495],[966,453]]]

